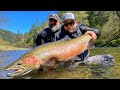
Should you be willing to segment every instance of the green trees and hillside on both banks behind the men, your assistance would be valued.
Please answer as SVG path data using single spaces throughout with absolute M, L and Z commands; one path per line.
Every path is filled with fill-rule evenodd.
M 62 24 L 65 13 L 74 13 L 79 23 L 101 31 L 101 36 L 94 42 L 95 46 L 120 46 L 120 11 L 59 11 Z M 48 22 L 35 23 L 28 33 L 18 34 L 0 29 L 0 45 L 10 44 L 16 47 L 34 47 L 36 36 L 46 27 Z

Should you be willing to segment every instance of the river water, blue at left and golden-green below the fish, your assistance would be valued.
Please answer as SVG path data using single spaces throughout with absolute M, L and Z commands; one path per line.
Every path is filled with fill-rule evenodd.
M 68 70 L 67 68 L 48 71 L 35 70 L 23 77 L 7 77 L 8 71 L 4 71 L 4 68 L 28 51 L 29 50 L 11 50 L 0 52 L 0 79 L 120 79 L 120 47 L 104 47 L 90 50 L 91 56 L 100 54 L 113 55 L 115 65 L 108 69 L 98 70 L 79 65 L 74 70 Z

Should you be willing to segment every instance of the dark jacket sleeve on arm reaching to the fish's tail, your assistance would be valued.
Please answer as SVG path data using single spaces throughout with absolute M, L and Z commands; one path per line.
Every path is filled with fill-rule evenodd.
M 80 27 L 80 29 L 81 29 L 81 31 L 82 31 L 83 34 L 84 34 L 86 31 L 93 31 L 93 32 L 95 32 L 95 34 L 97 35 L 97 38 L 100 37 L 100 35 L 101 35 L 101 32 L 100 32 L 100 30 L 98 30 L 98 29 L 94 29 L 94 28 L 87 27 L 87 26 L 85 26 L 84 24 L 80 24 L 79 27 Z

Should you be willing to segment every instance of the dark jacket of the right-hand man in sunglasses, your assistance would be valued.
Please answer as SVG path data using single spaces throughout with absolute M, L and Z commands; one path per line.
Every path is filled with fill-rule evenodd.
M 79 24 L 76 28 L 76 30 L 72 33 L 69 33 L 68 31 L 64 30 L 63 26 L 61 27 L 61 30 L 57 33 L 57 40 L 70 40 L 75 37 L 83 35 L 86 31 L 93 31 L 97 35 L 97 38 L 100 37 L 101 32 L 98 29 L 89 28 L 85 26 L 84 24 Z M 82 54 L 76 56 L 74 60 L 84 60 L 85 58 L 88 58 L 90 56 L 89 50 L 85 50 Z

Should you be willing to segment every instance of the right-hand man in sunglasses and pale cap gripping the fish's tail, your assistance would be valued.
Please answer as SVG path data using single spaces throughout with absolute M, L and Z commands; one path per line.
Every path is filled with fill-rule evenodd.
M 66 13 L 63 16 L 63 25 L 61 30 L 59 31 L 59 40 L 70 40 L 76 37 L 79 37 L 83 34 L 88 34 L 92 37 L 92 40 L 96 40 L 100 37 L 100 31 L 98 29 L 90 28 L 85 26 L 84 24 L 78 24 L 76 17 L 73 13 Z M 85 50 L 80 55 L 76 56 L 72 61 L 72 63 L 76 63 L 78 61 L 83 61 L 90 56 L 89 50 Z

